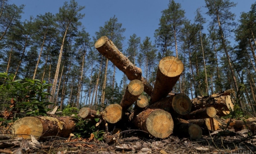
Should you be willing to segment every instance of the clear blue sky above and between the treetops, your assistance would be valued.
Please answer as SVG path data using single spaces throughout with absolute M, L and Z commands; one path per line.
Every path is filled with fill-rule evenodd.
M 29 19 L 30 15 L 36 16 L 51 12 L 53 14 L 59 11 L 63 6 L 65 0 L 9 0 L 9 3 L 16 5 L 25 4 L 23 19 Z M 124 36 L 124 49 L 127 48 L 127 40 L 135 33 L 137 36 L 144 38 L 151 37 L 154 42 L 154 31 L 158 28 L 159 18 L 161 18 L 161 11 L 166 9 L 169 0 L 76 0 L 79 5 L 85 6 L 81 12 L 85 17 L 81 21 L 86 31 L 90 36 L 99 30 L 100 26 L 109 20 L 110 17 L 116 15 L 118 22 L 123 24 L 126 28 Z M 185 16 L 192 22 L 195 18 L 195 12 L 198 7 L 202 7 L 202 14 L 207 12 L 204 0 L 175 0 L 180 3 L 182 9 L 185 10 Z M 255 0 L 233 0 L 237 3 L 237 7 L 232 8 L 231 11 L 236 14 L 236 19 L 239 18 L 242 11 L 248 12 Z M 207 20 L 211 20 L 207 15 L 203 15 Z M 206 25 L 204 25 L 206 29 Z M 207 33 L 207 31 L 206 31 Z M 231 39 L 231 42 L 232 39 Z M 234 43 L 234 42 L 233 42 Z M 117 74 L 120 71 L 117 70 Z M 120 81 L 120 76 L 117 77 Z

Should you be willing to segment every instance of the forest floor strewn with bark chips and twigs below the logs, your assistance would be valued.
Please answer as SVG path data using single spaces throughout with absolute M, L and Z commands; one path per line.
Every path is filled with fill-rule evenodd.
M 2 138 L 0 154 L 256 154 L 256 134 L 249 134 L 246 129 L 208 132 L 201 139 L 177 136 L 156 139 L 133 130 L 121 132 L 121 135 L 111 136 L 112 143 L 56 136 L 47 137 L 40 143 L 33 139 Z

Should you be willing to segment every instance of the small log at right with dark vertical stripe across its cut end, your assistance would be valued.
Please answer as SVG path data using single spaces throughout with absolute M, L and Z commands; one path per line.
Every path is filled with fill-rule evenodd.
M 199 125 L 202 128 L 206 128 L 212 132 L 220 129 L 219 125 L 221 125 L 215 118 L 206 118 L 206 119 L 195 119 L 195 120 L 188 120 L 189 123 Z

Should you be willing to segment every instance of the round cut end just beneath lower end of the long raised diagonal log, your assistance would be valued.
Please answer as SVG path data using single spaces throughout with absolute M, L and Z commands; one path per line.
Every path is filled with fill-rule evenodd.
M 132 80 L 128 84 L 128 91 L 132 95 L 135 95 L 135 96 L 140 95 L 144 91 L 144 85 L 139 80 Z

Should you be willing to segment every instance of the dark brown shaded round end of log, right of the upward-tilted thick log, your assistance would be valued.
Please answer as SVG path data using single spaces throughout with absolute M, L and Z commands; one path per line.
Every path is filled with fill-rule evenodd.
M 180 93 L 173 96 L 172 107 L 178 114 L 185 115 L 190 113 L 192 103 L 187 95 Z

